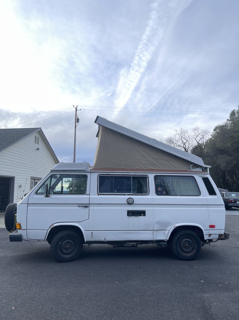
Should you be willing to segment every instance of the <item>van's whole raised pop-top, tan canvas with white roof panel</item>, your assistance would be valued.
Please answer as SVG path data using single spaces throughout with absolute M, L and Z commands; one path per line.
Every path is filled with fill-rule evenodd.
M 98 116 L 94 169 L 204 171 L 198 156 L 127 129 Z

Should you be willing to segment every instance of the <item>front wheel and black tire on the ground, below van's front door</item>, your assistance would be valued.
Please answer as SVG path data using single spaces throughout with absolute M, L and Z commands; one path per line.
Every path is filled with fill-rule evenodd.
M 57 233 L 51 241 L 51 254 L 59 262 L 76 260 L 82 251 L 82 240 L 78 233 L 63 230 Z

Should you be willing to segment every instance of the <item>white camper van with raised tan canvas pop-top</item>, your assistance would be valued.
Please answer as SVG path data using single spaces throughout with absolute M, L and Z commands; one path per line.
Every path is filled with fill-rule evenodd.
M 104 118 L 95 122 L 94 165 L 57 164 L 10 204 L 10 241 L 47 241 L 67 262 L 83 244 L 157 244 L 193 260 L 203 245 L 229 239 L 223 200 L 202 159 Z

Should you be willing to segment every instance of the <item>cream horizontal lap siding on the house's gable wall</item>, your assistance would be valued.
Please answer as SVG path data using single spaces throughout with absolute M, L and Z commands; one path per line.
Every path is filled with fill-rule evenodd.
M 36 144 L 35 136 L 39 137 Z M 39 151 L 36 150 L 39 148 Z M 43 178 L 56 164 L 41 132 L 34 132 L 0 152 L 0 176 L 15 177 L 14 202 L 30 191 L 31 177 Z M 22 187 L 19 188 L 19 185 Z

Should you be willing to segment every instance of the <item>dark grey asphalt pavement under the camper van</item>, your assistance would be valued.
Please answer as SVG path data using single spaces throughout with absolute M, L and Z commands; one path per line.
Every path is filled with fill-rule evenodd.
M 10 243 L 0 229 L 0 319 L 238 319 L 239 215 L 226 216 L 228 241 L 180 261 L 156 245 L 83 246 L 58 263 L 47 243 Z

